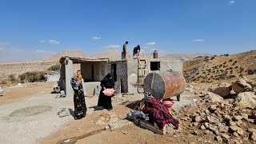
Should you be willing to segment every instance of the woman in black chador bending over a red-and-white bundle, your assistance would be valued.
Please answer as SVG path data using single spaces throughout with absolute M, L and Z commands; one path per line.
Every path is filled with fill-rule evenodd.
M 102 90 L 98 97 L 98 106 L 103 106 L 106 110 L 112 110 L 111 97 L 106 96 L 102 91 L 106 89 L 114 89 L 114 80 L 112 74 L 107 74 L 105 78 L 101 81 Z

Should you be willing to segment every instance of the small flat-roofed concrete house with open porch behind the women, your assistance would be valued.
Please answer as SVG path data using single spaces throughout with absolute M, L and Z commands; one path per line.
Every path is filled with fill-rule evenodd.
M 74 64 L 80 64 L 83 87 L 86 95 L 98 96 L 101 86 L 100 81 L 108 73 L 112 73 L 117 93 L 137 94 L 143 92 L 139 84 L 141 70 L 138 69 L 138 60 L 110 61 L 108 58 L 76 58 L 65 56 L 60 58 L 60 80 L 62 90 L 67 96 L 72 96 L 74 90 L 70 86 L 70 80 L 74 76 Z M 182 74 L 182 61 L 151 58 L 147 59 L 150 71 L 175 70 Z

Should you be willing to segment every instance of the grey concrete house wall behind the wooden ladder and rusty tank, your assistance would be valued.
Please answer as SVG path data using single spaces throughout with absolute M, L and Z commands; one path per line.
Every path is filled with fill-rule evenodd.
M 178 60 L 170 60 L 170 59 L 160 59 L 160 58 L 152 58 L 147 60 L 148 67 L 150 69 L 150 62 L 160 62 L 160 70 L 159 71 L 166 71 L 166 70 L 174 70 L 178 71 L 182 74 L 182 61 Z M 141 70 L 138 70 L 138 60 L 128 60 L 127 61 L 127 71 L 128 71 L 128 92 L 130 94 L 137 94 L 139 92 L 143 92 L 143 88 L 138 88 L 138 73 L 142 75 Z M 154 72 L 154 71 L 151 71 Z M 142 82 L 143 83 L 143 82 Z

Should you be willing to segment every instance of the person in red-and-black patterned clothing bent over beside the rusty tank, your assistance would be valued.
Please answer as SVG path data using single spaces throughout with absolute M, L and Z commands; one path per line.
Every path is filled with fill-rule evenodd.
M 159 129 L 162 129 L 166 124 L 173 124 L 178 129 L 178 120 L 174 118 L 168 108 L 160 102 L 160 100 L 154 98 L 149 92 L 145 94 L 145 107 L 143 112 L 149 114 L 149 122 L 158 125 Z

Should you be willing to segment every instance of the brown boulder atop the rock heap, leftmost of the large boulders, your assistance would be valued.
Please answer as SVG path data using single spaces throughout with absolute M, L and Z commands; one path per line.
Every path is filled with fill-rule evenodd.
M 210 88 L 210 92 L 213 92 L 214 94 L 218 94 L 222 97 L 226 97 L 227 95 L 229 95 L 231 90 L 232 90 L 231 85 L 226 82 L 222 82 Z

